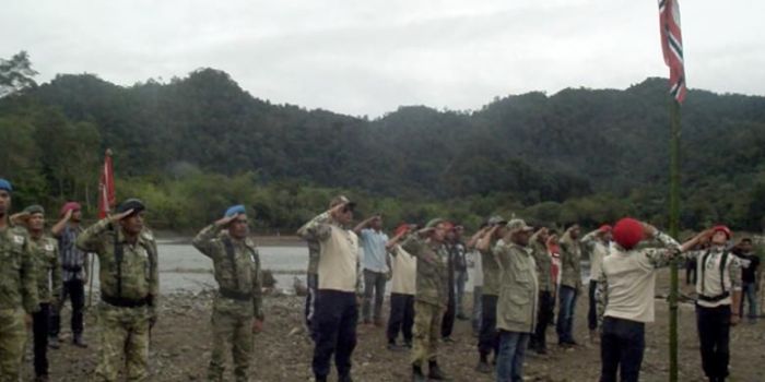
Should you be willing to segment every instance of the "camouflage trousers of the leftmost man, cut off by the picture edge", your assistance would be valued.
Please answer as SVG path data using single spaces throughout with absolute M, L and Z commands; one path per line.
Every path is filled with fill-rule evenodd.
M 0 309 L 0 382 L 16 382 L 26 345 L 23 309 Z

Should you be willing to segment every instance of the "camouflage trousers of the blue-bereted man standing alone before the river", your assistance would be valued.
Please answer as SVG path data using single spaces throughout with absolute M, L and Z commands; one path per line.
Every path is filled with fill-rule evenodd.
M 216 297 L 212 310 L 212 355 L 208 381 L 223 381 L 225 354 L 231 345 L 237 382 L 249 381 L 252 358 L 252 302 Z

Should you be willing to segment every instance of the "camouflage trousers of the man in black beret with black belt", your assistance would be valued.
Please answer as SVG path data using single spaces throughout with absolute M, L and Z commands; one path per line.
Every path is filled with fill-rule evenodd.
M 95 381 L 117 381 L 122 365 L 128 381 L 149 380 L 149 318 L 146 307 L 98 306 L 101 351 Z

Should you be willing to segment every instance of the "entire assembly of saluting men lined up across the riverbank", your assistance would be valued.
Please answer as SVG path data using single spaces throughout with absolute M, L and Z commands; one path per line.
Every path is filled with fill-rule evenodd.
M 82 302 L 87 252 L 99 260 L 101 351 L 95 378 L 116 381 L 125 357 L 128 379 L 146 380 L 160 289 L 156 242 L 144 227 L 143 203 L 126 200 L 114 215 L 84 230 L 78 225 L 79 205 L 67 203 L 61 220 L 52 227 L 58 238 L 54 239 L 44 232 L 40 206 L 9 216 L 12 191 L 11 183 L 0 179 L 0 262 L 10 264 L 0 267 L 0 381 L 19 379 L 31 325 L 37 380 L 47 380 L 48 337 L 54 338 L 50 346 L 58 345 L 59 322 L 54 319 L 51 330 L 49 312 L 60 310 L 63 296 L 72 298 L 73 344 L 86 346 Z M 467 319 L 462 310 L 467 275 L 462 273 L 470 251 L 480 253 L 474 262 L 482 278 L 473 310 L 479 332 L 476 369 L 491 372 L 489 357 L 494 354 L 496 381 L 521 381 L 527 348 L 546 351 L 546 327 L 555 299 L 558 344 L 576 345 L 573 318 L 582 289 L 582 247 L 590 251 L 588 326 L 590 339 L 601 342 L 601 381 L 615 381 L 617 372 L 621 381 L 638 380 L 645 324 L 654 321 L 656 270 L 680 256 L 696 259 L 698 264 L 696 314 L 704 371 L 711 382 L 728 375 L 729 327 L 741 314 L 741 266 L 752 266 L 755 261 L 731 254 L 732 232 L 725 226 L 703 231 L 681 246 L 631 218 L 582 238 L 579 227 L 570 225 L 558 240 L 550 227 L 532 228 L 519 218 L 508 222 L 494 216 L 466 244 L 461 227 L 442 218 L 423 227 L 401 225 L 392 238 L 382 232 L 379 214 L 350 229 L 354 208 L 348 198 L 337 196 L 327 212 L 298 230 L 309 243 L 306 321 L 315 343 L 317 382 L 327 380 L 332 356 L 339 381 L 352 381 L 358 298 L 363 323 L 381 326 L 389 278 L 393 288 L 388 347 L 411 347 L 412 381 L 449 380 L 438 365 L 437 348 L 439 342 L 451 341 L 455 317 Z M 260 259 L 249 239 L 248 223 L 245 207 L 235 205 L 193 240 L 212 259 L 219 284 L 211 319 L 210 381 L 223 380 L 228 345 L 236 380 L 249 380 L 252 334 L 263 325 Z M 706 249 L 693 250 L 705 243 Z M 360 248 L 364 249 L 363 263 Z M 396 342 L 399 332 L 403 347 Z

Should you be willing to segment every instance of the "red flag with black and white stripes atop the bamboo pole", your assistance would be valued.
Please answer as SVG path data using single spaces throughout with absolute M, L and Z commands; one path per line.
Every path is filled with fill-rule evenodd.
M 678 0 L 659 0 L 661 50 L 664 63 L 670 68 L 670 95 L 682 104 L 685 99 L 685 63 L 683 36 L 680 32 L 680 4 Z

